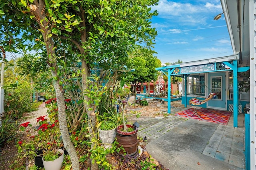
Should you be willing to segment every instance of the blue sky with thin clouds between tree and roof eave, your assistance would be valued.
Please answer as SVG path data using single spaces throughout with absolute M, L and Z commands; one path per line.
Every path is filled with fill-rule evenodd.
M 197 61 L 232 55 L 220 0 L 159 0 L 152 26 L 158 31 L 155 56 L 162 63 Z

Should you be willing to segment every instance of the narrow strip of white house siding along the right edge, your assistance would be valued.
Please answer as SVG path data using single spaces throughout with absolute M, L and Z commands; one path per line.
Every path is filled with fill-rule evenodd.
M 250 169 L 256 169 L 256 2 L 249 4 L 250 34 Z

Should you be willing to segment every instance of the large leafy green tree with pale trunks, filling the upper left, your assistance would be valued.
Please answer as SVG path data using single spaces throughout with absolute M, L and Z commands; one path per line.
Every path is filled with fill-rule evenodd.
M 53 77 L 58 104 L 60 131 L 68 150 L 72 167 L 79 169 L 76 151 L 71 143 L 66 123 L 62 71 L 65 57 L 56 52 L 60 46 L 80 57 L 82 89 L 89 89 L 88 77 L 92 68 L 112 74 L 109 70 L 122 70 L 130 53 L 139 44 L 152 46 L 156 30 L 150 19 L 156 15 L 149 6 L 158 0 L 3 0 L 0 4 L 0 23 L 9 37 L 20 35 L 41 48 Z M 19 28 L 19 30 L 13 30 Z M 22 32 L 21 32 L 22 31 Z M 29 47 L 26 47 L 28 49 Z M 77 62 L 77 61 L 74 61 Z M 102 74 L 108 76 L 109 74 Z M 120 74 L 121 75 L 121 74 Z M 102 77 L 103 78 L 103 77 Z M 111 82 L 110 82 L 111 83 Z M 93 102 L 84 95 L 88 119 L 92 122 L 89 132 L 96 132 L 96 114 Z M 91 138 L 92 139 L 92 138 Z M 92 142 L 93 147 L 93 142 Z M 92 169 L 97 169 L 92 164 Z

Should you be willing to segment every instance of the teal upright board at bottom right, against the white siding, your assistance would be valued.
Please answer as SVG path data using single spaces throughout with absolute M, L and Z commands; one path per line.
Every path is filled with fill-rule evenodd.
M 244 123 L 245 123 L 245 169 L 250 170 L 250 114 L 244 114 Z

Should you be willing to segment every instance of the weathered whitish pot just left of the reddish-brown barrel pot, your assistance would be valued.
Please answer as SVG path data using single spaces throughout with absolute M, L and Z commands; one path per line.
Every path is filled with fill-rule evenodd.
M 101 130 L 99 129 L 100 140 L 102 141 L 105 148 L 110 148 L 112 143 L 116 138 L 116 128 L 111 130 Z

